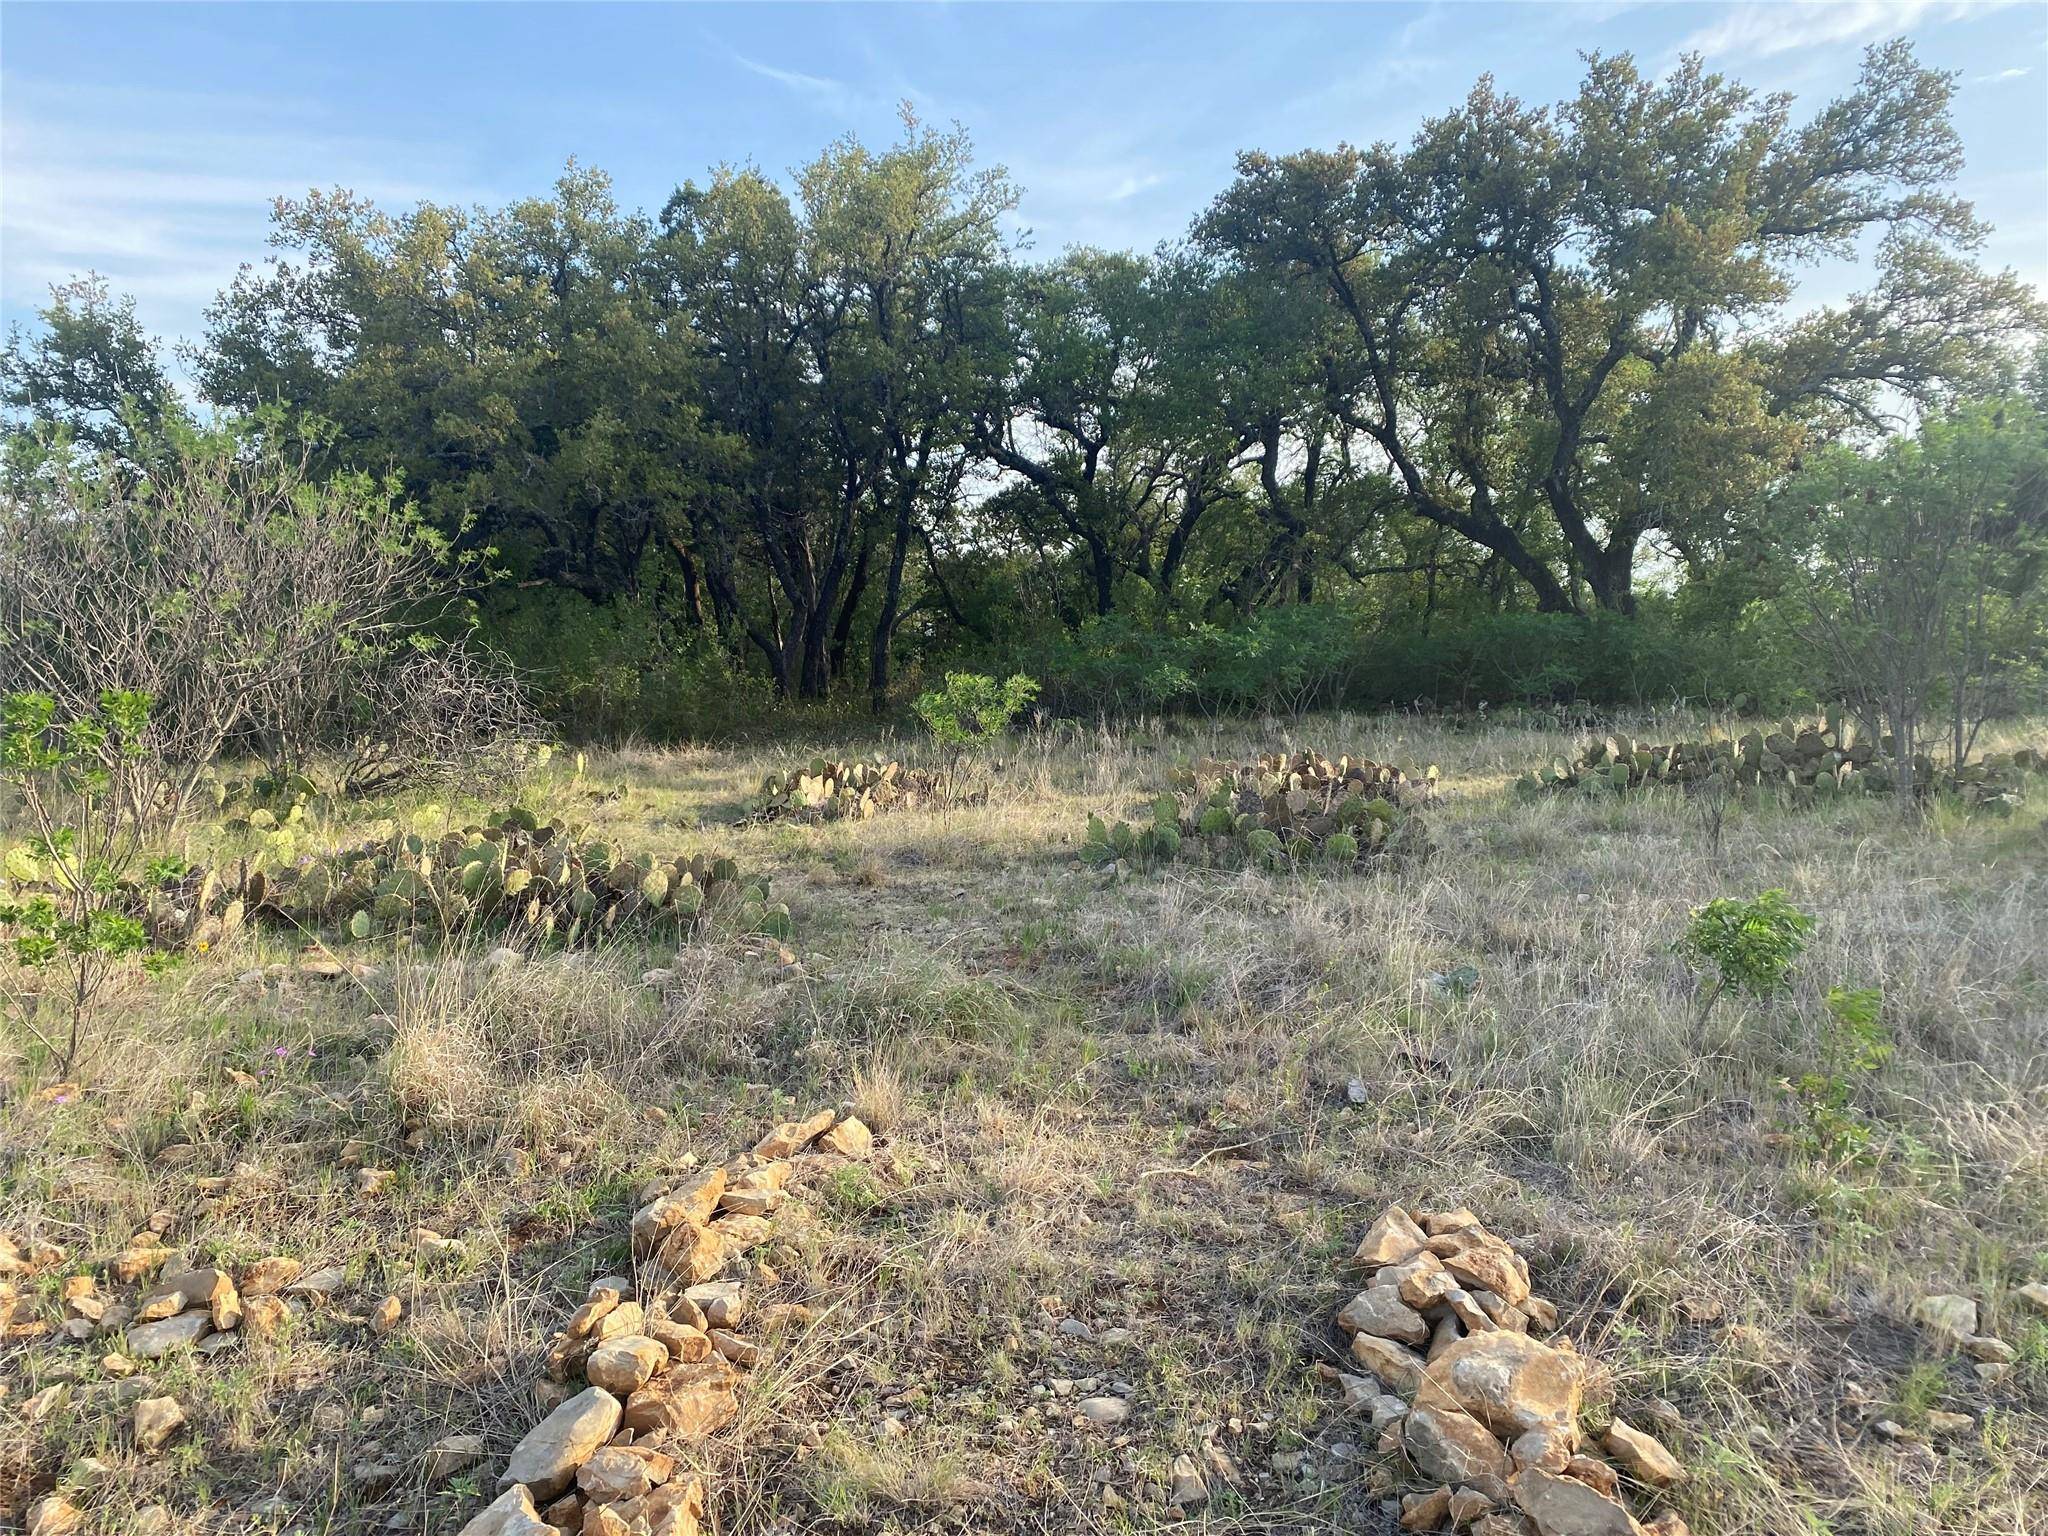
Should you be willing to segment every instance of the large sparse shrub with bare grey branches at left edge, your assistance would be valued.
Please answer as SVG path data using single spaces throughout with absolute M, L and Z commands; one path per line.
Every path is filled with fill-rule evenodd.
M 147 694 L 170 815 L 225 752 L 287 774 L 344 750 L 360 786 L 406 776 L 403 754 L 530 735 L 510 680 L 438 639 L 473 565 L 389 481 L 315 479 L 311 449 L 195 434 L 143 473 L 55 459 L 0 494 L 0 690 L 70 713 Z

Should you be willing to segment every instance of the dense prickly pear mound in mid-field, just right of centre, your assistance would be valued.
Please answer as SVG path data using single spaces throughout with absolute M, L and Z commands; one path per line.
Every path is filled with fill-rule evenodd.
M 1419 860 L 1430 852 L 1430 834 L 1413 807 L 1436 780 L 1434 766 L 1415 772 L 1368 758 L 1270 754 L 1251 764 L 1202 762 L 1174 770 L 1176 793 L 1153 799 L 1143 825 L 1092 815 L 1081 862 L 1114 870 L 1182 852 L 1276 870 Z

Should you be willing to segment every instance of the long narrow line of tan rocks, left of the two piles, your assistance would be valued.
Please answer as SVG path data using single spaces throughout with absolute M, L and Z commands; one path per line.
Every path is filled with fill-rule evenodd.
M 514 1446 L 504 1495 L 461 1536 L 698 1536 L 705 1483 L 678 1452 L 739 1415 L 762 1360 L 748 1331 L 807 1319 L 801 1307 L 750 1315 L 735 1262 L 768 1241 L 801 1163 L 872 1151 L 858 1118 L 819 1110 L 723 1167 L 649 1190 L 633 1212 L 637 1284 L 598 1280 L 553 1337 L 543 1399 L 565 1401 Z

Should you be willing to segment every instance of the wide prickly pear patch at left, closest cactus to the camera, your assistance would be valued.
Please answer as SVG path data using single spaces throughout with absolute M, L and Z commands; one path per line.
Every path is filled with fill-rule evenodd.
M 565 823 L 510 809 L 440 838 L 399 831 L 264 872 L 186 870 L 147 895 L 152 924 L 184 942 L 246 920 L 340 928 L 350 938 L 401 930 L 510 932 L 578 944 L 629 930 L 692 934 L 729 915 L 739 928 L 788 934 L 788 907 L 768 879 L 729 858 L 659 860 L 580 842 Z

